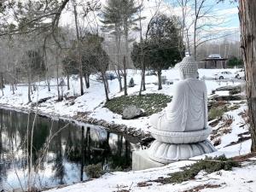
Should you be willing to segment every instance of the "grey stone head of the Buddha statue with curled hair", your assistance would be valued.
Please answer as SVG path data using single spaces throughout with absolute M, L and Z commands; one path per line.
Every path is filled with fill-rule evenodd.
M 179 70 L 181 79 L 197 79 L 198 67 L 197 63 L 192 56 L 185 56 L 183 61 L 177 63 L 175 66 Z

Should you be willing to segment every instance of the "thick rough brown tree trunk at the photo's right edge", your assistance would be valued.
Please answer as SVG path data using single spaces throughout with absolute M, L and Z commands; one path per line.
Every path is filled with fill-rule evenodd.
M 256 151 L 256 3 L 253 0 L 239 1 L 241 48 L 246 69 L 246 87 L 252 152 Z

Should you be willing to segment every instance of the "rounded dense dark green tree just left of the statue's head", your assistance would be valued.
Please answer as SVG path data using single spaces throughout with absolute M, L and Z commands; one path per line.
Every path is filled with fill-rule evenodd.
M 152 20 L 149 27 L 148 40 L 133 44 L 131 59 L 138 67 L 143 57 L 146 67 L 154 69 L 158 73 L 159 90 L 161 90 L 161 71 L 174 66 L 177 61 L 181 61 L 178 47 L 181 47 L 179 42 L 183 41 L 180 40 L 180 28 L 177 18 L 174 16 L 158 15 Z

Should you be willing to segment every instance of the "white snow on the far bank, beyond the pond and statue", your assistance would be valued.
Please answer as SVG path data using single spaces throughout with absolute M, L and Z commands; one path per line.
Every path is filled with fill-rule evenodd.
M 229 70 L 232 73 L 235 73 L 237 69 L 200 69 L 199 74 L 202 78 L 212 77 L 214 73 L 218 73 L 219 71 Z M 158 86 L 154 83 L 157 82 L 156 76 L 146 76 L 146 88 L 147 90 L 143 93 L 163 93 L 168 96 L 172 96 L 173 94 L 173 86 L 179 80 L 179 73 L 175 69 L 165 70 L 163 71 L 163 76 L 169 81 L 173 81 L 173 84 L 166 85 L 163 84 L 163 89 L 158 90 Z M 140 89 L 140 71 L 137 70 L 129 70 L 127 80 L 129 81 L 131 78 L 134 79 L 136 86 L 128 89 L 128 94 L 137 94 Z M 67 79 L 65 79 L 67 84 Z M 212 90 L 220 86 L 224 86 L 227 84 L 241 84 L 241 81 L 219 81 L 207 79 L 205 80 L 207 84 L 208 94 L 212 93 Z M 119 92 L 119 82 L 117 79 L 113 79 L 112 81 L 108 81 L 109 90 L 110 90 L 110 98 L 114 96 L 121 96 L 124 93 Z M 136 129 L 137 131 L 148 131 L 148 117 L 143 117 L 140 119 L 131 119 L 124 120 L 121 118 L 121 115 L 112 113 L 108 108 L 102 108 L 105 102 L 105 93 L 103 84 L 96 80 L 95 76 L 91 76 L 90 78 L 90 88 L 85 89 L 84 96 L 79 96 L 79 79 L 74 76 L 71 78 L 70 87 L 71 90 L 67 90 L 67 86 L 63 87 L 63 95 L 65 96 L 78 96 L 77 98 L 70 100 L 63 100 L 62 102 L 56 102 L 57 100 L 57 89 L 56 89 L 56 80 L 51 80 L 51 91 L 48 91 L 45 82 L 37 83 L 38 89 L 34 91 L 32 94 L 32 102 L 37 102 L 38 100 L 46 97 L 51 97 L 47 102 L 44 102 L 38 106 L 38 110 L 42 113 L 48 114 L 50 116 L 61 116 L 66 118 L 73 118 L 79 112 L 88 113 L 89 118 L 93 119 L 103 119 L 109 123 L 117 124 L 117 125 L 126 125 L 131 127 L 132 129 Z M 15 94 L 10 90 L 9 85 L 4 89 L 4 96 L 0 96 L 0 107 L 5 106 L 9 108 L 18 108 L 21 110 L 29 110 L 31 107 L 27 104 L 27 86 L 26 84 L 18 84 L 17 90 L 15 90 Z M 136 126 L 134 126 L 136 125 Z

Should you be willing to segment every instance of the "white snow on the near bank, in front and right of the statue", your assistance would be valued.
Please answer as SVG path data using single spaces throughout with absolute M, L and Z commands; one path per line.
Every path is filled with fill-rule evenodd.
M 255 162 L 244 162 L 241 167 L 233 168 L 232 171 L 222 170 L 211 174 L 199 172 L 195 179 L 183 183 L 161 184 L 152 181 L 159 177 L 168 177 L 168 174 L 178 172 L 183 166 L 189 166 L 194 163 L 195 161 L 193 160 L 201 160 L 205 158 L 205 156 L 215 157 L 224 154 L 226 157 L 230 158 L 250 153 L 251 140 L 249 139 L 239 142 L 239 136 L 241 136 L 241 134 L 247 135 L 248 131 L 248 128 L 245 125 L 246 119 L 243 115 L 246 109 L 246 104 L 241 104 L 240 108 L 224 113 L 224 116 L 233 117 L 233 121 L 228 127 L 230 131 L 224 132 L 223 135 L 220 136 L 221 143 L 216 145 L 216 148 L 218 149 L 217 152 L 197 156 L 191 160 L 177 161 L 160 168 L 152 168 L 136 172 L 112 172 L 85 183 L 77 183 L 62 189 L 51 189 L 49 192 L 255 191 L 255 157 L 249 159 L 255 160 Z M 213 130 L 221 131 L 226 128 L 227 127 L 224 126 L 224 120 L 221 120 L 218 125 L 213 127 Z M 211 136 L 209 139 L 210 138 Z M 142 186 L 142 183 L 144 186 Z

